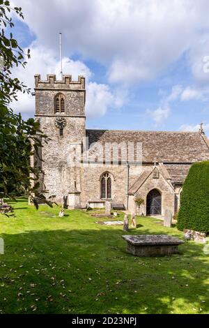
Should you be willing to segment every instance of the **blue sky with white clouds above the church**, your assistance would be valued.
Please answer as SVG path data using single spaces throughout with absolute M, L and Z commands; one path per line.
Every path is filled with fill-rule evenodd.
M 16 4 L 16 1 L 13 1 Z M 105 2 L 105 6 L 104 6 Z M 24 22 L 13 34 L 31 48 L 14 74 L 33 88 L 33 75 L 86 76 L 87 128 L 209 132 L 209 3 L 206 0 L 19 0 Z M 187 24 L 185 23 L 187 22 Z M 34 99 L 14 105 L 34 114 Z

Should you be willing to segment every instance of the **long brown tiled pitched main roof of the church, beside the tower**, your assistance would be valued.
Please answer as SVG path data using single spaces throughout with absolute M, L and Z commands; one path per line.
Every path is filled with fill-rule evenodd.
M 208 140 L 199 132 L 86 130 L 93 142 L 141 142 L 144 162 L 191 163 L 209 160 Z

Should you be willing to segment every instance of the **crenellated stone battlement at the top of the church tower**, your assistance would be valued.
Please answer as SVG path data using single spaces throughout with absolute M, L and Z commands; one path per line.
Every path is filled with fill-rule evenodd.
M 63 75 L 63 80 L 56 80 L 55 74 L 47 74 L 47 80 L 41 80 L 40 74 L 35 76 L 35 89 L 74 89 L 85 90 L 85 77 L 78 76 L 77 81 L 72 81 L 72 75 Z

